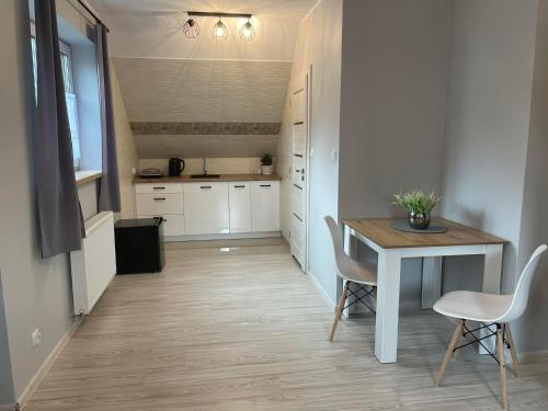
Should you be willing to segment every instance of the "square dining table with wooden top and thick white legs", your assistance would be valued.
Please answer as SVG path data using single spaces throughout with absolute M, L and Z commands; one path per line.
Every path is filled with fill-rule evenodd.
M 505 239 L 445 219 L 432 225 L 445 232 L 407 232 L 393 228 L 401 219 L 343 219 L 344 251 L 355 258 L 355 241 L 378 253 L 375 356 L 395 363 L 398 352 L 400 276 L 402 259 L 422 258 L 422 307 L 432 308 L 442 296 L 442 262 L 449 255 L 484 255 L 483 293 L 500 294 Z

